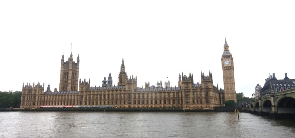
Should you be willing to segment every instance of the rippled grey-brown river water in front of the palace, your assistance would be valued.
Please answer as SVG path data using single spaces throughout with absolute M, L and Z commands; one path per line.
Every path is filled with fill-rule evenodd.
M 0 137 L 295 137 L 294 120 L 226 112 L 0 112 Z

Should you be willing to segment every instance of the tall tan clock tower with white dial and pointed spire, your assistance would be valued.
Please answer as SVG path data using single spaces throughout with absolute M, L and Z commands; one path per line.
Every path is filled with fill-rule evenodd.
M 224 50 L 221 58 L 221 64 L 223 72 L 224 98 L 225 101 L 234 100 L 235 102 L 237 102 L 234 75 L 234 59 L 232 58 L 232 54 L 230 53 L 226 38 L 223 48 Z

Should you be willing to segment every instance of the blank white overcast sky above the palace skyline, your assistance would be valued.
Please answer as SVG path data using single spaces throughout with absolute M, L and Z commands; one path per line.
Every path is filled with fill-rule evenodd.
M 0 1 L 0 91 L 22 83 L 59 87 L 60 61 L 80 55 L 79 77 L 94 87 L 109 72 L 117 86 L 122 56 L 137 86 L 201 71 L 223 88 L 224 36 L 236 92 L 251 97 L 269 73 L 294 73 L 294 1 Z M 168 78 L 167 78 L 168 77 Z

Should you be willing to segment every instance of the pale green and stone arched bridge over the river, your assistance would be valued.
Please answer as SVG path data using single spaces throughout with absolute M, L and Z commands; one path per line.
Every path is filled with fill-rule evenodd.
M 272 119 L 294 119 L 295 88 L 258 97 L 247 103 L 246 108 L 252 114 L 268 115 Z

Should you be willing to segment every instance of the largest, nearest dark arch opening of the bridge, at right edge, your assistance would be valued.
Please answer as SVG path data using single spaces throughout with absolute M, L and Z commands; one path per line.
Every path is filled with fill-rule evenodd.
M 295 113 L 295 99 L 293 97 L 282 97 L 278 100 L 277 112 L 280 113 Z

